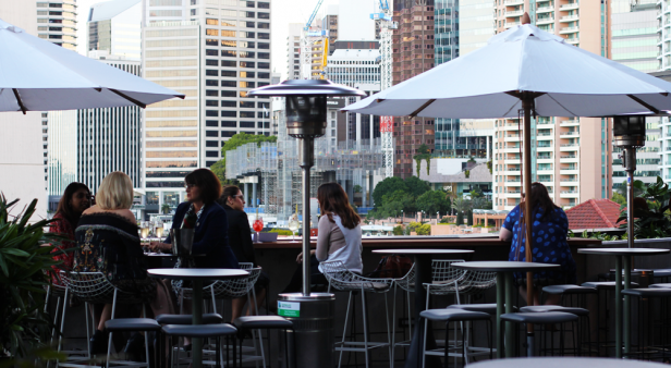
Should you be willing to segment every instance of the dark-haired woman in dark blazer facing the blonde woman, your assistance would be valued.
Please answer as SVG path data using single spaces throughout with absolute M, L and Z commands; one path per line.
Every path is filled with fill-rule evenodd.
M 227 213 L 217 199 L 221 196 L 221 183 L 208 169 L 197 169 L 184 177 L 187 201 L 180 204 L 172 218 L 172 229 L 195 229 L 192 254 L 197 268 L 239 268 L 237 258 L 229 246 Z M 172 240 L 152 242 L 155 252 L 169 252 Z

